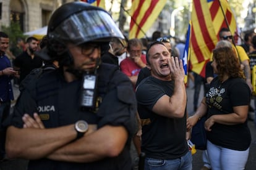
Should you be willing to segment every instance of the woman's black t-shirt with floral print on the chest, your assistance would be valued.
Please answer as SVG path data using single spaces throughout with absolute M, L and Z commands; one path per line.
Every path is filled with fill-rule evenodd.
M 233 107 L 249 105 L 250 89 L 244 79 L 229 78 L 220 83 L 218 77 L 210 84 L 210 90 L 205 95 L 208 104 L 209 118 L 212 115 L 234 113 Z M 215 123 L 211 131 L 207 131 L 207 139 L 215 145 L 233 150 L 247 150 L 250 145 L 250 130 L 245 123 L 224 125 Z

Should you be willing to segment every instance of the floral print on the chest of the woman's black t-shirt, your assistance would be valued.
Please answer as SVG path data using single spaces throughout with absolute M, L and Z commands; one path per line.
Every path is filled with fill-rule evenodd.
M 220 103 L 223 100 L 222 95 L 224 94 L 224 92 L 226 92 L 224 88 L 211 87 L 210 90 L 205 95 L 208 105 L 216 107 L 219 110 L 221 110 L 222 106 L 220 105 Z

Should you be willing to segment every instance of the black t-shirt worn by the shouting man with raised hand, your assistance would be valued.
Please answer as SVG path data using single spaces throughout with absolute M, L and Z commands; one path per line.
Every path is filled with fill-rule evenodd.
M 149 158 L 176 159 L 188 152 L 186 114 L 183 118 L 166 118 L 152 111 L 163 95 L 171 97 L 174 81 L 153 76 L 143 79 L 136 91 L 138 112 L 142 120 L 142 152 Z

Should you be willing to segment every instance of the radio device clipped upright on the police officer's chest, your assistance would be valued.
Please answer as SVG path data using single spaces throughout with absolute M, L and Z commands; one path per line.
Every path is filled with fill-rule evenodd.
M 98 75 L 84 73 L 82 77 L 82 90 L 80 94 L 80 107 L 94 108 L 97 93 Z

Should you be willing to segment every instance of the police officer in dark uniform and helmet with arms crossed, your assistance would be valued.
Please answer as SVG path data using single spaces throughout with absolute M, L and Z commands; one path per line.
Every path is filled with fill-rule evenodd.
M 49 21 L 43 58 L 59 68 L 23 89 L 7 129 L 9 158 L 28 169 L 132 169 L 137 129 L 129 79 L 100 62 L 100 47 L 124 37 L 111 16 L 85 2 L 59 7 Z

